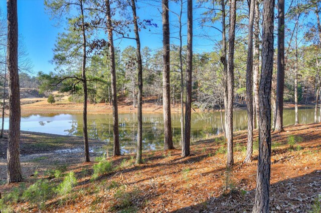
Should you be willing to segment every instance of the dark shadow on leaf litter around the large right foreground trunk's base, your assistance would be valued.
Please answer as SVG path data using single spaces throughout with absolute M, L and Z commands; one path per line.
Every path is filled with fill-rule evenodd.
M 321 193 L 321 170 L 271 184 L 270 211 L 308 212 Z M 251 212 L 255 190 L 230 190 L 218 197 L 171 212 Z

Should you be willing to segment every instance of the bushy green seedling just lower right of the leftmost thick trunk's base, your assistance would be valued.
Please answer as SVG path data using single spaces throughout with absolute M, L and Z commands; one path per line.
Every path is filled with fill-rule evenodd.
M 34 184 L 30 185 L 23 197 L 32 204 L 36 204 L 40 209 L 46 207 L 46 201 L 53 195 L 53 186 L 47 179 L 40 179 Z

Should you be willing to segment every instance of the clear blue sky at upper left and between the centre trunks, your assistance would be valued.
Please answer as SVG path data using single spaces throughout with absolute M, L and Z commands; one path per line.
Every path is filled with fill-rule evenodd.
M 149 46 L 152 49 L 157 49 L 162 47 L 162 19 L 161 13 L 158 8 L 161 9 L 161 3 L 159 3 L 158 8 L 149 5 L 148 1 L 143 1 L 147 3 L 138 4 L 138 15 L 141 19 L 152 18 L 158 27 L 150 28 L 148 30 L 142 30 L 140 32 L 141 46 Z M 158 1 L 151 1 L 153 3 Z M 0 7 L 6 13 L 7 11 L 7 1 L 0 0 Z M 172 3 L 170 7 L 173 10 L 179 11 L 177 4 Z M 186 10 L 186 8 L 185 8 Z M 194 18 L 196 19 L 200 14 L 200 10 L 194 12 Z M 183 22 L 186 23 L 186 13 L 183 14 Z M 176 24 L 176 15 L 171 13 L 170 20 L 173 24 Z M 45 11 L 45 5 L 43 0 L 18 0 L 18 24 L 19 24 L 19 34 L 23 39 L 23 43 L 26 46 L 29 57 L 31 58 L 34 67 L 33 72 L 37 74 L 38 71 L 49 72 L 54 70 L 54 65 L 50 63 L 53 57 L 53 51 L 58 32 L 64 30 L 63 26 L 57 27 L 56 20 L 50 19 L 50 16 Z M 171 33 L 177 31 L 172 27 Z M 199 26 L 197 22 L 194 23 L 194 31 L 198 32 Z M 186 25 L 184 26 L 183 33 L 186 34 Z M 203 31 L 203 30 L 202 30 Z M 209 31 L 208 31 L 209 32 Z M 218 31 L 211 32 L 213 36 L 219 35 Z M 185 37 L 186 39 L 186 37 Z M 175 38 L 172 38 L 172 42 L 177 42 Z M 186 42 L 186 41 L 185 41 Z M 117 44 L 124 48 L 127 45 L 135 46 L 133 40 L 122 39 L 117 40 Z M 194 38 L 194 49 L 195 51 L 210 50 L 213 48 L 213 43 L 209 40 L 205 41 L 203 38 Z

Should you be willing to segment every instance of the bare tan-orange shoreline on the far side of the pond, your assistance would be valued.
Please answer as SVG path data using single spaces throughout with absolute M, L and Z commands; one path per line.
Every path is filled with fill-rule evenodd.
M 22 100 L 22 112 L 23 113 L 82 113 L 83 104 L 74 103 L 68 101 L 68 97 L 63 97 L 61 100 L 51 104 L 48 103 L 47 98 L 23 98 Z M 299 104 L 299 107 L 314 107 L 312 104 Z M 294 108 L 294 104 L 286 103 L 284 108 Z M 234 106 L 234 110 L 246 109 L 246 105 Z M 88 104 L 88 113 L 111 113 L 112 105 L 109 103 L 90 103 Z M 143 112 L 163 112 L 163 105 L 155 104 L 154 99 L 143 99 L 142 105 Z M 180 113 L 181 104 L 177 103 L 171 106 L 172 112 Z M 216 109 L 218 111 L 219 109 Z M 224 110 L 224 109 L 223 109 Z M 119 98 L 118 100 L 118 112 L 136 112 L 137 105 L 133 107 L 131 102 L 127 102 L 124 98 Z M 200 108 L 192 108 L 192 112 L 201 112 Z

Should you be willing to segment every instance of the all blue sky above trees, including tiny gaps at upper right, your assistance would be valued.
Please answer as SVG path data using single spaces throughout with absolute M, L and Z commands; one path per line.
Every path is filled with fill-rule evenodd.
M 289 2 L 288 2 L 289 3 Z M 157 0 L 141 0 L 137 2 L 137 14 L 140 19 L 152 19 L 152 22 L 157 27 L 152 26 L 148 29 L 142 29 L 141 45 L 142 47 L 148 46 L 153 50 L 159 50 L 162 48 L 162 16 L 161 2 Z M 285 11 L 287 11 L 289 5 L 285 5 Z M 219 8 L 219 7 L 218 7 Z M 0 0 L 0 9 L 2 13 L 6 15 L 7 5 L 5 0 Z M 171 43 L 178 43 L 178 18 L 175 12 L 179 12 L 179 5 L 175 2 L 170 2 L 170 28 L 171 28 Z M 242 8 L 237 8 L 238 10 Z M 245 8 L 246 9 L 246 8 Z M 218 29 L 208 26 L 201 26 L 200 21 L 204 15 L 202 13 L 206 10 L 204 7 L 198 7 L 198 4 L 194 5 L 194 37 L 193 46 L 195 52 L 211 51 L 215 50 L 217 41 L 221 40 L 221 33 Z M 276 14 L 276 9 L 275 9 Z M 6 17 L 6 16 L 5 16 Z M 59 32 L 64 31 L 64 21 L 60 21 L 57 24 L 57 19 L 50 19 L 50 15 L 46 12 L 44 6 L 44 0 L 20 0 L 18 2 L 18 18 L 19 18 L 19 34 L 26 45 L 26 50 L 29 53 L 34 67 L 33 73 L 38 71 L 48 73 L 54 70 L 54 65 L 50 60 L 53 58 L 53 48 L 56 43 L 56 39 Z M 186 8 L 183 11 L 183 35 L 184 44 L 186 44 Z M 308 17 L 313 19 L 313 17 Z M 287 23 L 290 24 L 290 23 Z M 221 28 L 217 22 L 212 25 L 217 28 Z M 239 31 L 236 31 L 236 34 Z M 115 45 L 121 49 L 127 45 L 134 45 L 134 40 L 131 39 L 117 39 L 115 36 Z M 161 61 L 159 61 L 161 62 Z

